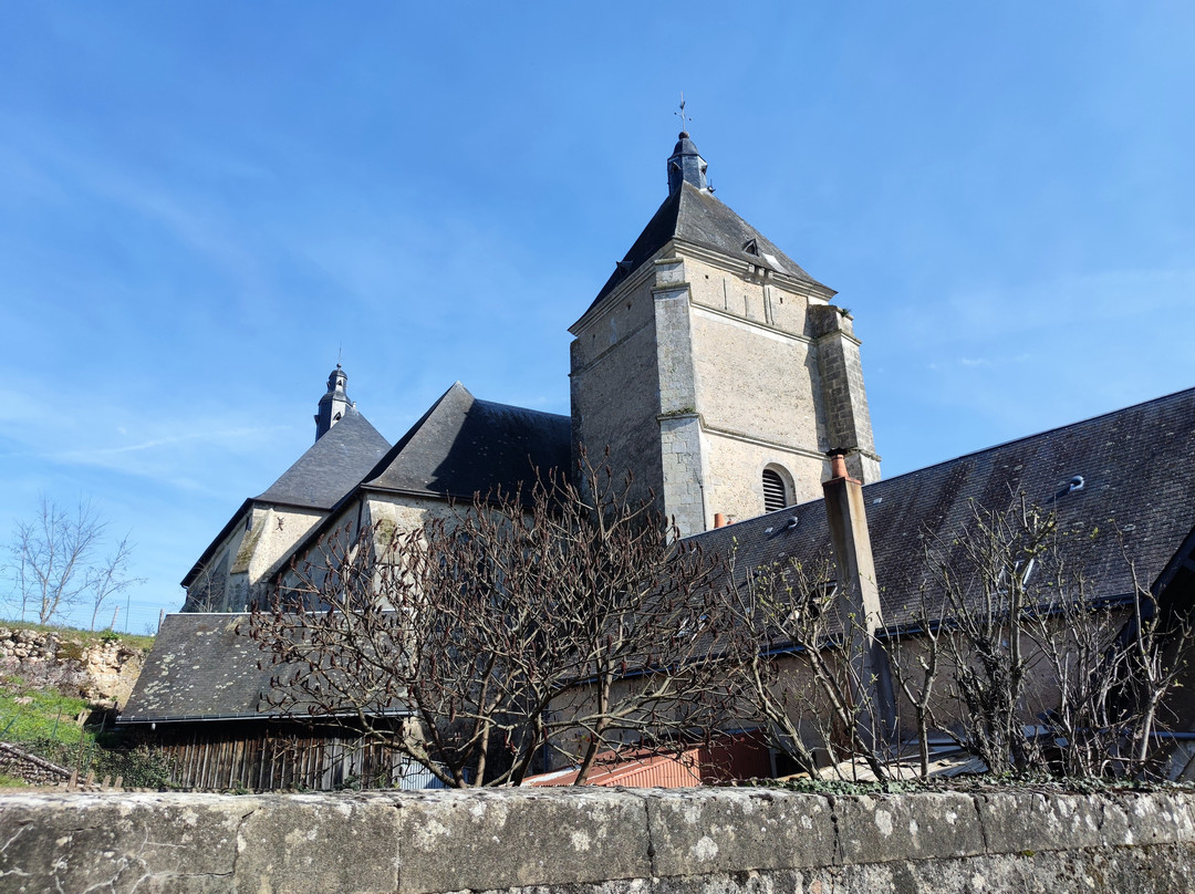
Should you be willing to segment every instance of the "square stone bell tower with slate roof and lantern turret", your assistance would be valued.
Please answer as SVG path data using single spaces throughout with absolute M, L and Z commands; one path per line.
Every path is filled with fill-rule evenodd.
M 815 500 L 827 453 L 880 478 L 859 341 L 833 289 L 715 198 L 682 131 L 668 197 L 569 330 L 572 433 L 682 535 Z

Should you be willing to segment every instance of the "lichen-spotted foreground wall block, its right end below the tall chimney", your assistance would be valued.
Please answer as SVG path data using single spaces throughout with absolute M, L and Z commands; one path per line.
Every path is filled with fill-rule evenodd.
M 829 803 L 816 795 L 678 789 L 646 801 L 658 876 L 815 867 L 834 852 Z

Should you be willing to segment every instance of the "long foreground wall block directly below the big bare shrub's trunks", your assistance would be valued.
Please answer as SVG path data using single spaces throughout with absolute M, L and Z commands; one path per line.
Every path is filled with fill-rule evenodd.
M 448 791 L 397 803 L 403 894 L 651 875 L 643 800 L 624 791 Z

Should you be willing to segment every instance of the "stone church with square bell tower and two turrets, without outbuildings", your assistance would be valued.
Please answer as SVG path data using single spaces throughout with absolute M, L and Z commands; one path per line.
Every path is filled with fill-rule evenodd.
M 315 443 L 216 534 L 183 578 L 184 611 L 243 611 L 331 529 L 411 529 L 452 501 L 570 470 L 582 445 L 608 448 L 681 537 L 816 498 L 829 452 L 878 480 L 859 341 L 834 290 L 715 197 L 685 131 L 667 174 L 569 329 L 571 418 L 456 382 L 391 445 L 337 365 Z

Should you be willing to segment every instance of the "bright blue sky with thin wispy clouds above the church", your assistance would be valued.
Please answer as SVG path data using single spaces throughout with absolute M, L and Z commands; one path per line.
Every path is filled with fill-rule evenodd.
M 568 412 L 681 90 L 885 474 L 1195 385 L 1191 4 L 574 6 L 0 7 L 0 533 L 90 496 L 141 632 L 338 350 L 392 441 L 458 379 Z

